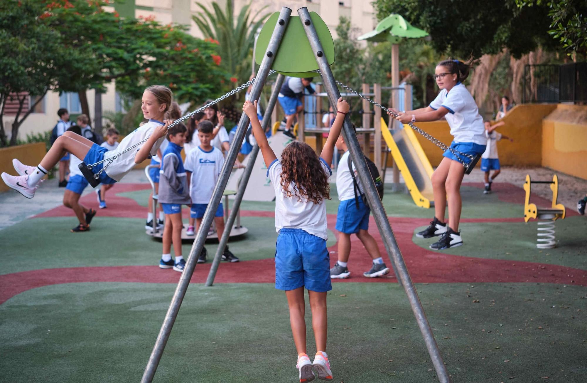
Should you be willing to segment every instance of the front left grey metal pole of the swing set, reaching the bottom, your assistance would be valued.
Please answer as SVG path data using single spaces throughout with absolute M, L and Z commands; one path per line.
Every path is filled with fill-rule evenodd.
M 269 44 L 267 45 L 265 56 L 261 62 L 257 79 L 255 79 L 255 83 L 251 90 L 251 99 L 258 99 L 259 95 L 261 95 L 261 90 L 265 85 L 265 79 L 268 76 L 269 69 L 271 69 L 271 65 L 275 58 L 275 53 L 279 48 L 282 37 L 284 36 L 291 12 L 292 10 L 286 8 L 285 6 L 281 8 L 278 22 L 275 24 L 275 29 L 271 35 L 271 39 L 269 39 Z M 238 122 L 237 133 L 234 137 L 235 142 L 242 141 L 248 125 L 249 118 L 247 117 L 246 113 L 243 112 L 241 119 Z M 218 182 L 214 187 L 214 191 L 212 192 L 210 203 L 208 204 L 208 207 L 204 213 L 200 229 L 198 229 L 194 244 L 191 247 L 190 255 L 187 258 L 187 263 L 185 263 L 184 271 L 181 273 L 180 281 L 178 282 L 176 292 L 173 294 L 173 298 L 171 299 L 171 303 L 167 310 L 167 314 L 165 315 L 163 325 L 161 325 L 161 330 L 159 331 L 157 341 L 155 342 L 153 351 L 149 357 L 149 362 L 147 362 L 147 367 L 143 373 L 141 383 L 150 383 L 153 381 L 153 377 L 157 371 L 157 366 L 161 360 L 161 355 L 163 355 L 163 350 L 167 344 L 167 340 L 169 339 L 171 328 L 173 328 L 173 324 L 177 318 L 177 313 L 180 310 L 181 301 L 183 301 L 185 291 L 187 290 L 187 287 L 190 284 L 191 276 L 194 273 L 198 256 L 204 247 L 208 229 L 210 229 L 212 220 L 214 220 L 214 214 L 216 209 L 218 209 L 218 205 L 222 199 L 222 193 L 224 192 L 224 188 L 228 182 L 228 177 L 230 177 L 232 167 L 234 166 L 234 162 L 237 159 L 238 150 L 238 145 L 233 145 L 230 150 L 228 150 L 227 159 L 224 162 L 224 166 L 222 166 L 222 170 L 220 172 L 220 178 L 218 179 Z

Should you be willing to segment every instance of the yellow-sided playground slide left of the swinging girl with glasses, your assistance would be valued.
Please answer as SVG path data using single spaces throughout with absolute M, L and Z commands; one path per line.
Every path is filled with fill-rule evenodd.
M 414 203 L 420 207 L 434 206 L 432 194 L 432 166 L 422 150 L 414 131 L 409 125 L 390 132 L 385 120 L 381 119 L 383 139 L 392 151 L 393 160 L 402 172 L 404 182 Z

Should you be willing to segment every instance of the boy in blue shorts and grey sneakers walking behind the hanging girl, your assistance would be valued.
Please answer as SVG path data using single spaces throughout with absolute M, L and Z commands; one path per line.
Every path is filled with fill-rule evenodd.
M 339 114 L 339 113 L 337 113 Z M 343 279 L 350 276 L 347 267 L 350 255 L 350 234 L 356 234 L 363 246 L 373 260 L 369 271 L 363 273 L 364 277 L 375 278 L 389 273 L 389 267 L 383 263 L 383 258 L 379 253 L 377 242 L 369 234 L 369 214 L 371 209 L 363 202 L 363 185 L 356 174 L 355 166 L 351 163 L 352 169 L 349 169 L 349 148 L 346 146 L 343 136 L 336 140 L 336 149 L 343 150 L 345 154 L 340 157 L 338 169 L 336 170 L 336 190 L 338 190 L 338 215 L 336 216 L 336 230 L 340 232 L 338 237 L 338 261 L 330 269 L 330 278 Z M 359 190 L 358 196 L 355 194 L 355 179 Z

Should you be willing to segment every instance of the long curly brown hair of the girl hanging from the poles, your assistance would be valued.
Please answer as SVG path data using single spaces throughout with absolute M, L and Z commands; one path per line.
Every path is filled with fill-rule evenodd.
M 295 184 L 293 191 L 289 190 L 291 182 Z M 285 196 L 296 196 L 300 202 L 305 199 L 320 204 L 330 199 L 328 175 L 308 144 L 294 141 L 281 153 L 281 187 Z

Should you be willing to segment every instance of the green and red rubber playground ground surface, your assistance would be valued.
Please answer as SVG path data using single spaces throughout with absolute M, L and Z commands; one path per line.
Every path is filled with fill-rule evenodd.
M 414 236 L 433 210 L 407 194 L 383 199 L 451 379 L 585 382 L 587 220 L 568 209 L 556 221 L 558 247 L 538 250 L 536 222 L 522 219 L 524 191 L 492 189 L 484 195 L 482 184 L 463 184 L 465 245 L 443 251 Z M 157 267 L 161 243 L 144 233 L 149 186 L 116 184 L 109 193 L 87 233 L 69 233 L 76 220 L 65 207 L 0 231 L 0 381 L 140 381 L 180 274 Z M 81 202 L 97 208 L 93 193 Z M 203 285 L 211 262 L 195 268 L 154 381 L 298 381 L 285 294 L 274 288 L 273 211 L 273 203 L 242 203 L 249 231 L 230 241 L 241 261 L 221 263 L 214 287 Z M 369 230 L 384 253 L 373 219 Z M 190 247 L 184 243 L 184 256 Z M 217 245 L 206 247 L 213 256 Z M 393 273 L 363 277 L 369 267 L 353 237 L 351 277 L 328 295 L 334 381 L 437 381 L 403 288 Z M 313 355 L 309 306 L 306 322 Z

